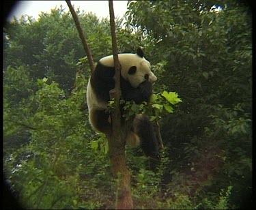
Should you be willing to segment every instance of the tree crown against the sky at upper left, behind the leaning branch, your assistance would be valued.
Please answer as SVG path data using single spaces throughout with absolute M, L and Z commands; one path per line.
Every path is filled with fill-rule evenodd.
M 98 20 L 94 14 L 85 15 L 79 10 L 76 12 L 87 34 L 91 52 L 95 52 L 94 59 L 97 61 L 109 55 L 109 23 Z M 5 42 L 4 68 L 23 64 L 31 73 L 31 79 L 46 76 L 57 82 L 66 93 L 70 93 L 74 87 L 76 63 L 79 58 L 85 57 L 85 52 L 69 12 L 64 12 L 60 7 L 52 10 L 51 14 L 42 13 L 38 21 L 23 16 L 6 27 Z

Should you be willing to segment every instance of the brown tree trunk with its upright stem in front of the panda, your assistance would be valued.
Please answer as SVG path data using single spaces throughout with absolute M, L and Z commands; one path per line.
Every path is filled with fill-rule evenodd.
M 113 1 L 109 0 L 109 16 L 111 25 L 112 49 L 115 63 L 115 89 L 109 92 L 109 95 L 115 99 L 115 110 L 111 112 L 112 133 L 108 136 L 109 156 L 113 174 L 117 177 L 117 192 L 115 209 L 133 209 L 133 201 L 130 190 L 130 172 L 126 167 L 125 155 L 125 136 L 126 126 L 121 126 L 121 115 L 119 101 L 121 97 L 120 72 L 121 65 L 118 61 L 117 40 L 115 34 L 115 14 L 113 10 Z

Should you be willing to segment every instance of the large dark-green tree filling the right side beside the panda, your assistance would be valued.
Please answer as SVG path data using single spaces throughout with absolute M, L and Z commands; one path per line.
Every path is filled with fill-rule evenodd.
M 238 204 L 251 195 L 250 10 L 223 1 L 221 12 L 210 12 L 215 2 L 204 2 L 207 10 L 194 1 L 130 2 L 127 19 L 152 43 L 150 59 L 167 61 L 158 84 L 184 99 L 162 121 L 173 160 L 165 179 L 175 180 L 167 190 L 193 195 L 233 185 Z

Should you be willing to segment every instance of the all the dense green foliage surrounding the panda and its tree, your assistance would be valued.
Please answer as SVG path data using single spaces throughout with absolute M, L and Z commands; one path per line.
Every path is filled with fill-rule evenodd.
M 154 100 L 164 91 L 182 98 L 173 113 L 152 116 L 160 162 L 126 149 L 137 209 L 250 205 L 251 14 L 236 1 L 201 2 L 131 1 L 125 27 L 117 20 L 120 52 L 145 47 L 158 76 Z M 210 11 L 214 3 L 223 10 Z M 110 55 L 109 20 L 76 12 L 94 60 Z M 87 119 L 89 64 L 72 16 L 62 8 L 24 16 L 3 38 L 6 182 L 31 209 L 113 208 L 118 180 L 106 139 Z

